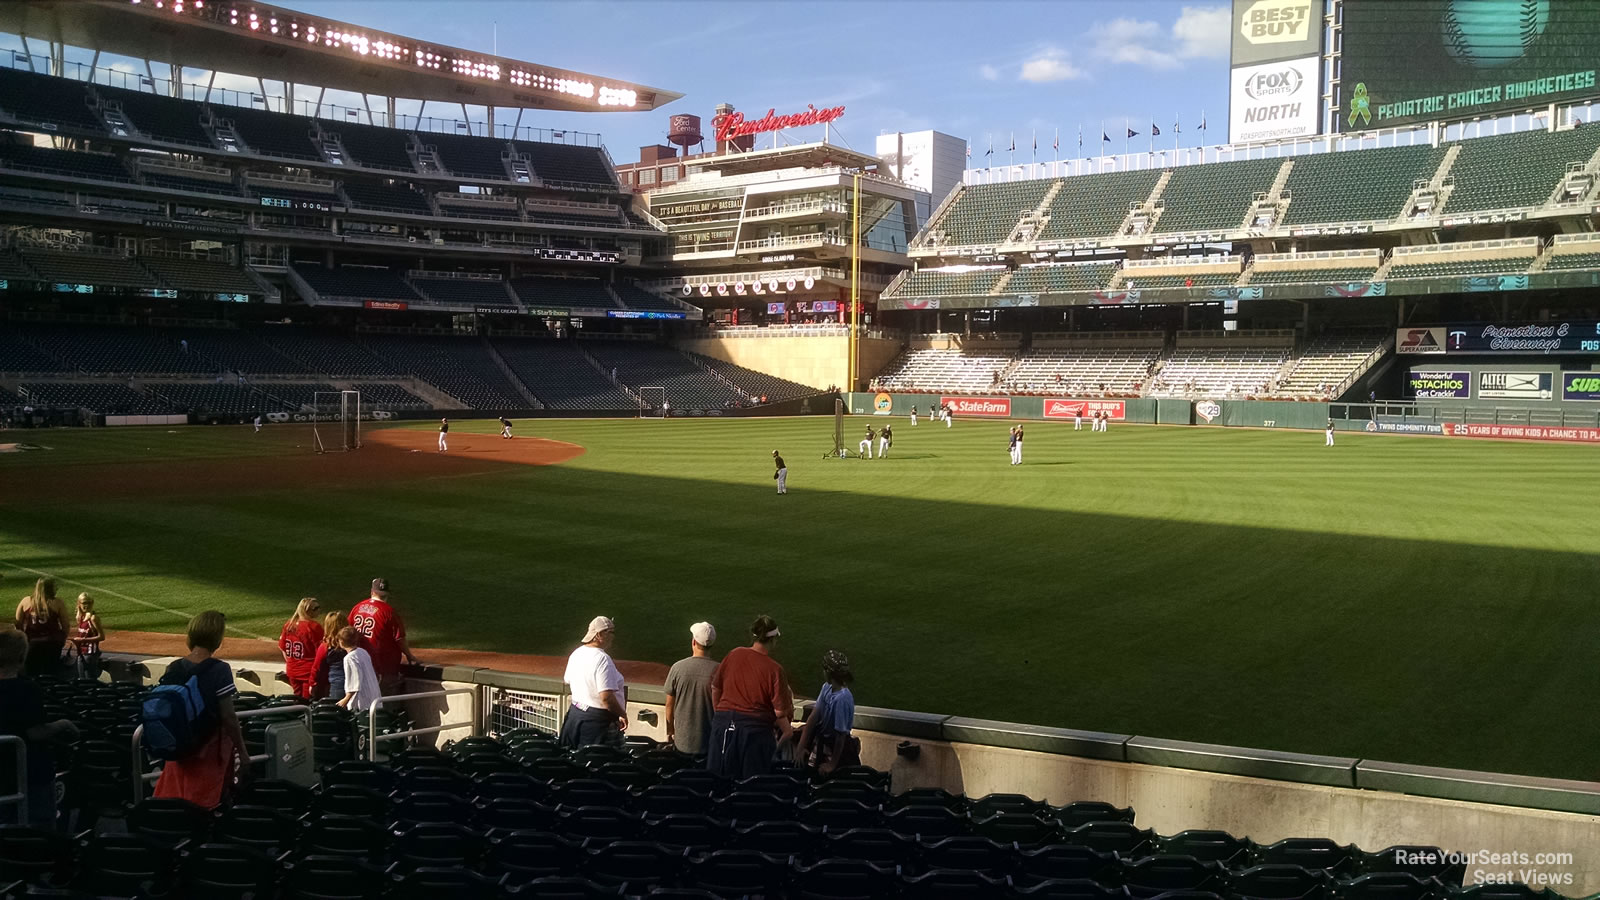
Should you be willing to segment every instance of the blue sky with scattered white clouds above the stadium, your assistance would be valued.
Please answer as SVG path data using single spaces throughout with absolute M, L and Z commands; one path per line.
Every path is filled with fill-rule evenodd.
M 982 163 L 989 135 L 1018 162 L 1038 130 L 1040 159 L 1061 130 L 1074 155 L 1099 122 L 1122 149 L 1122 120 L 1146 133 L 1154 117 L 1170 147 L 1174 115 L 1195 144 L 1200 110 L 1210 139 L 1227 135 L 1226 2 L 493 2 L 286 0 L 349 22 L 493 50 L 502 56 L 613 75 L 683 93 L 654 112 L 525 115 L 523 123 L 598 131 L 618 162 L 664 143 L 667 115 L 731 102 L 760 115 L 845 106 L 835 139 L 872 151 L 882 131 L 936 128 L 971 141 Z M 434 114 L 430 104 L 429 112 Z M 446 115 L 440 110 L 438 115 Z M 1138 138 L 1133 147 L 1147 146 Z

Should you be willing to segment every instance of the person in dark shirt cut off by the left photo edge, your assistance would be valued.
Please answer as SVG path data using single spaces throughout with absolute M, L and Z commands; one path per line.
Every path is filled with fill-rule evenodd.
M 45 692 L 22 676 L 29 657 L 29 641 L 21 631 L 0 631 L 0 735 L 19 737 L 27 745 L 27 809 L 18 822 L 35 828 L 56 825 L 56 759 L 53 745 L 78 735 L 66 719 L 45 721 Z M 6 754 L 10 757 L 10 753 Z M 19 786 L 14 765 L 0 767 L 0 794 L 14 794 Z

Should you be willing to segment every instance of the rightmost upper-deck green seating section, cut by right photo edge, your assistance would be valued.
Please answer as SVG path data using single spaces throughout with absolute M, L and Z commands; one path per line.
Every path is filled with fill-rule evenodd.
M 1566 175 L 1568 163 L 1587 163 L 1600 149 L 1600 130 L 1518 131 L 1458 141 L 1450 167 L 1454 189 L 1446 213 L 1542 207 Z

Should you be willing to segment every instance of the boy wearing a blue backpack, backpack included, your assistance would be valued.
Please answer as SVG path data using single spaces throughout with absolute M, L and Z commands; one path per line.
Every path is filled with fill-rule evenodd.
M 173 660 L 144 700 L 144 749 L 165 759 L 155 796 L 216 809 L 243 775 L 245 733 L 234 711 L 234 669 L 216 658 L 226 618 L 206 610 L 189 620 L 189 655 Z

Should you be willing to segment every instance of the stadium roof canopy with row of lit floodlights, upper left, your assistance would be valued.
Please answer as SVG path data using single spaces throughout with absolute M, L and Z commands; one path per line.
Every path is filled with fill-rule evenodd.
M 381 18 L 389 3 L 373 3 Z M 578 112 L 680 93 L 246 0 L 5 0 L 0 30 L 64 46 L 389 98 Z

